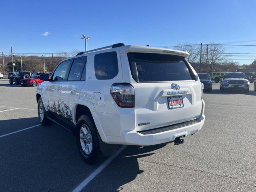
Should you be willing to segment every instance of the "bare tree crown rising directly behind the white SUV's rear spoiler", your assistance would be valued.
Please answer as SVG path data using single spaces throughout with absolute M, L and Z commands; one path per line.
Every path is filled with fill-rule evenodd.
M 177 50 L 182 50 L 182 51 L 187 51 L 190 56 L 187 57 L 187 60 L 190 63 L 194 63 L 196 62 L 199 57 L 200 57 L 200 46 L 198 45 L 194 45 L 193 43 L 178 43 L 176 44 L 177 46 L 175 47 L 175 49 Z

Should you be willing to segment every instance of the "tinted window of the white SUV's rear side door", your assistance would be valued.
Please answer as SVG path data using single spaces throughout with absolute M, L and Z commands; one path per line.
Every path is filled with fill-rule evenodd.
M 70 69 L 68 80 L 81 80 L 86 58 L 75 59 Z

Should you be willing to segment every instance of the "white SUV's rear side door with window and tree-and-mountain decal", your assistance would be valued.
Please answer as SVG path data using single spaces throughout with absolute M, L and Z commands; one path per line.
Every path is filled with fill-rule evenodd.
M 73 120 L 74 107 L 78 103 L 80 91 L 85 82 L 86 60 L 86 56 L 74 59 L 68 77 L 62 84 L 58 115 L 66 120 Z

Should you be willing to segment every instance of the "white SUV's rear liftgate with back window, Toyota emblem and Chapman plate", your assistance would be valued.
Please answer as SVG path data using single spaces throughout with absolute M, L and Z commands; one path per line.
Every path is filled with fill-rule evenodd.
M 135 93 L 136 130 L 189 121 L 202 112 L 197 74 L 180 56 L 128 53 Z

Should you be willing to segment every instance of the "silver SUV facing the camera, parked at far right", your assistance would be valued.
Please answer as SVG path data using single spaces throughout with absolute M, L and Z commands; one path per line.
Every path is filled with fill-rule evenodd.
M 236 90 L 249 92 L 250 82 L 246 79 L 244 73 L 242 72 L 228 72 L 225 73 L 220 80 L 220 90 L 224 92 L 225 90 Z

